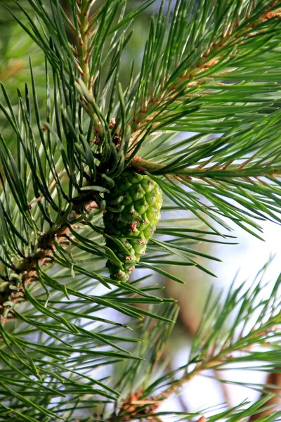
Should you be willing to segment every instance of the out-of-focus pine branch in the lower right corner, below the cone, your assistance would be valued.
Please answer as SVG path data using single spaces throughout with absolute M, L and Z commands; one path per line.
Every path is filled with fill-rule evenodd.
M 138 406 L 135 403 L 131 406 L 131 393 L 128 400 L 123 404 L 120 413 L 112 416 L 112 421 L 119 421 L 120 417 L 127 415 L 130 418 L 144 417 L 145 414 L 155 414 L 162 401 L 174 395 L 183 388 L 198 374 L 204 373 L 207 369 L 220 371 L 231 368 L 232 363 L 237 362 L 264 362 L 262 368 L 268 372 L 274 369 L 279 373 L 279 347 L 277 345 L 280 336 L 280 302 L 275 302 L 275 293 L 280 288 L 280 278 L 272 288 L 272 293 L 268 298 L 264 298 L 263 288 L 261 287 L 263 272 L 256 278 L 254 286 L 240 293 L 241 286 L 237 289 L 230 288 L 226 302 L 223 307 L 218 303 L 212 302 L 211 297 L 207 300 L 207 307 L 202 315 L 202 325 L 197 330 L 197 335 L 193 341 L 190 359 L 186 366 L 177 371 L 172 371 L 159 378 L 158 381 L 152 381 L 150 385 L 143 390 L 138 390 L 136 395 L 138 399 L 151 400 L 152 404 L 146 407 Z M 214 300 L 214 299 L 213 299 Z M 259 302 L 257 302 L 259 300 Z M 215 306 L 214 306 L 215 304 Z M 209 308 L 209 310 L 208 310 Z M 259 315 L 254 314 L 259 310 Z M 235 312 L 231 327 L 226 328 L 226 321 L 229 321 L 230 315 Z M 251 318 L 254 316 L 254 322 Z M 254 350 L 258 347 L 257 350 Z M 261 347 L 259 349 L 259 347 Z M 262 348 L 264 347 L 264 350 Z M 268 350 L 268 347 L 270 350 Z M 192 369 L 188 369 L 192 366 Z M 256 369 L 261 366 L 256 364 Z M 171 375 L 183 371 L 183 374 L 176 381 L 171 381 Z M 222 381 L 222 380 L 218 380 Z M 226 381 L 224 381 L 226 382 Z M 277 397 L 277 390 L 272 397 L 268 396 L 268 389 L 263 385 L 251 385 L 245 382 L 243 385 L 249 388 L 261 388 L 263 391 L 263 405 L 268 399 L 273 400 Z M 157 395 L 149 396 L 152 390 L 159 388 L 161 391 Z M 256 407 L 259 409 L 259 407 Z M 266 411 L 266 409 L 264 409 Z M 132 412 L 132 413 L 131 413 Z M 270 414 L 272 414 L 272 409 Z M 111 419 L 110 419 L 111 421 Z

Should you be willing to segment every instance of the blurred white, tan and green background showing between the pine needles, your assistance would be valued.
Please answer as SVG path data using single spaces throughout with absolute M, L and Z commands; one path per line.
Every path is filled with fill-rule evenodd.
M 67 11 L 68 1 L 61 0 L 61 3 Z M 101 2 L 97 2 L 97 6 L 98 3 Z M 129 7 L 133 8 L 139 2 L 130 0 L 128 3 Z M 28 7 L 25 0 L 21 0 L 20 4 Z M 20 26 L 15 23 L 11 13 L 5 7 L 6 5 L 10 6 L 12 11 L 16 8 L 18 17 L 24 20 L 24 16 L 19 13 L 18 8 L 15 6 L 15 1 L 0 1 L 0 80 L 4 83 L 13 99 L 16 89 L 23 90 L 25 82 L 30 82 L 28 63 L 28 55 L 30 54 L 36 73 L 37 88 L 39 89 L 39 94 L 41 90 L 43 98 L 44 56 Z M 134 34 L 124 56 L 123 71 L 120 73 L 124 80 L 128 76 L 126 72 L 129 69 L 126 64 L 131 63 L 132 58 L 136 59 L 138 66 L 141 63 L 143 46 L 150 25 L 150 14 L 152 11 L 157 11 L 158 6 L 159 2 L 156 1 L 154 6 L 145 11 L 134 25 Z M 9 139 L 10 129 L 3 116 L 0 117 L 0 124 L 6 139 Z M 185 134 L 185 137 L 187 136 L 188 134 Z M 11 145 L 11 148 L 13 148 L 13 145 Z M 192 216 L 190 215 L 190 217 Z M 235 277 L 236 286 L 240 286 L 244 280 L 247 280 L 249 285 L 259 269 L 266 264 L 270 255 L 275 255 L 275 258 L 268 267 L 265 282 L 269 280 L 274 282 L 279 275 L 281 228 L 272 222 L 264 222 L 262 225 L 264 241 L 254 238 L 254 236 L 247 234 L 239 227 L 235 227 L 235 224 L 232 223 L 233 236 L 237 237 L 237 240 L 233 239 L 233 241 L 237 241 L 239 244 L 202 243 L 197 246 L 201 251 L 221 259 L 222 262 L 207 262 L 202 259 L 202 263 L 214 272 L 217 278 L 211 277 L 195 267 L 178 267 L 176 269 L 173 267 L 169 269 L 171 273 L 179 276 L 186 283 L 181 285 L 175 281 L 162 280 L 163 283 L 166 283 L 166 295 L 176 298 L 181 305 L 180 316 L 166 349 L 171 368 L 176 369 L 176 367 L 187 362 L 192 336 L 199 324 L 202 308 L 211 286 L 214 286 L 218 298 L 221 298 L 221 290 L 226 292 Z M 136 276 L 139 275 L 140 270 L 137 270 Z M 266 378 L 264 373 L 258 371 L 249 373 L 249 371 L 233 369 L 233 371 L 228 371 L 227 374 L 228 380 L 233 381 L 233 384 L 222 384 L 216 381 L 216 378 L 223 378 L 222 373 L 206 373 L 206 375 L 204 377 L 195 377 L 185 386 L 180 396 L 167 400 L 162 409 L 170 411 L 184 411 L 186 409 L 198 411 L 198 409 L 204 409 L 223 402 L 228 402 L 233 407 L 235 404 L 240 404 L 244 399 L 255 400 L 259 397 L 259 393 L 235 385 L 235 382 L 239 383 L 240 381 L 249 380 L 250 376 L 251 382 L 261 383 Z

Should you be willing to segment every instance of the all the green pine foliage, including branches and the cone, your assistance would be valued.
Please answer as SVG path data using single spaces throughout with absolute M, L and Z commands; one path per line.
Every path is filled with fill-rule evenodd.
M 0 421 L 281 421 L 277 386 L 247 382 L 254 404 L 161 410 L 209 369 L 280 373 L 281 279 L 210 293 L 173 371 L 178 305 L 155 278 L 214 275 L 197 243 L 228 248 L 235 224 L 261 238 L 264 220 L 281 222 L 281 1 L 4 3 L 16 26 L 0 45 Z

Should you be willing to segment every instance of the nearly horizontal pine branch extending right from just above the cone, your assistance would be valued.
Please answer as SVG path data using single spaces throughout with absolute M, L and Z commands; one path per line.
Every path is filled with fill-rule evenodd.
M 277 196 L 279 195 L 277 178 L 277 174 L 280 172 L 279 153 L 277 149 L 276 155 L 269 156 L 266 153 L 269 144 L 270 148 L 277 148 L 277 139 L 274 139 L 274 135 L 272 139 L 270 139 L 270 135 L 268 136 L 268 128 L 273 127 L 272 124 L 277 122 L 275 118 L 279 119 L 277 115 L 279 112 L 273 113 L 263 122 L 259 122 L 260 136 L 258 137 L 253 136 L 256 124 L 251 127 L 248 122 L 248 127 L 244 129 L 240 123 L 237 124 L 237 127 L 233 127 L 228 134 L 213 139 L 204 140 L 202 136 L 192 136 L 186 140 L 187 146 L 185 150 L 182 150 L 181 158 L 178 158 L 177 150 L 171 153 L 171 148 L 176 149 L 175 145 L 166 148 L 162 145 L 162 152 L 158 156 L 159 162 L 150 162 L 136 157 L 132 164 L 136 170 L 143 169 L 150 174 L 155 174 L 157 179 L 163 174 L 171 187 L 166 184 L 166 181 L 163 181 L 159 182 L 162 188 L 165 188 L 165 191 L 166 189 L 173 190 L 175 193 L 177 191 L 177 195 L 181 193 L 181 196 L 178 197 L 178 199 L 183 198 L 181 203 L 184 203 L 184 198 L 190 197 L 184 188 L 187 186 L 192 191 L 197 191 L 207 197 L 223 214 L 227 212 L 228 217 L 233 218 L 237 224 L 247 222 L 247 224 L 255 226 L 244 212 L 242 213 L 239 208 L 228 203 L 227 198 L 235 199 L 242 207 L 246 207 L 248 212 L 251 211 L 251 214 L 247 214 L 249 217 L 266 218 L 266 214 L 269 212 L 267 218 L 279 222 L 279 205 L 277 205 L 279 200 L 274 205 L 276 196 L 273 196 L 273 191 Z M 268 123 L 271 126 L 267 126 Z M 200 141 L 202 141 L 201 148 Z M 263 151 L 265 151 L 264 154 Z M 144 155 L 145 153 L 144 151 Z M 181 185 L 183 188 L 180 188 Z M 218 191 L 220 196 L 215 197 L 214 195 Z M 223 200 L 222 197 L 225 197 L 226 200 Z M 261 202 L 258 205 L 256 202 L 258 197 L 259 201 L 265 201 L 266 207 L 261 207 Z M 197 207 L 200 207 L 198 200 Z M 203 210 L 203 207 L 201 208 Z M 215 210 L 216 208 L 214 208 Z M 207 210 L 204 207 L 203 212 L 207 212 L 210 217 L 215 218 L 212 211 L 211 208 Z

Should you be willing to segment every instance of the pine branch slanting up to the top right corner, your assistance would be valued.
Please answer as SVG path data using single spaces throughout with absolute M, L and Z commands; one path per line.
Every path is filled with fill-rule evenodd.
M 200 27 L 201 25 L 200 17 L 202 17 L 204 13 L 207 13 L 209 4 L 206 3 L 205 6 L 201 7 L 202 8 L 200 8 L 199 6 L 197 11 L 195 10 L 195 16 L 192 21 L 192 25 L 198 25 L 198 27 Z M 186 13 L 185 8 L 186 6 L 184 2 L 178 2 L 178 5 L 174 12 L 174 17 L 179 14 L 182 15 L 183 18 L 184 13 Z M 223 8 L 223 6 L 221 6 L 221 8 Z M 200 39 L 198 37 L 198 33 L 197 40 L 194 39 L 194 37 L 196 36 L 192 34 L 193 44 L 191 43 L 187 47 L 189 51 L 192 48 L 196 51 L 196 53 L 193 54 L 194 58 L 191 58 L 191 60 L 193 60 L 192 65 L 188 65 L 190 56 L 187 56 L 185 58 L 183 51 L 181 51 L 181 53 L 179 54 L 181 59 L 178 59 L 178 62 L 176 63 L 176 70 L 173 69 L 173 72 L 173 70 L 170 70 L 169 68 L 165 69 L 165 65 L 163 63 L 164 60 L 166 60 L 166 55 L 164 54 L 162 58 L 163 62 L 161 63 L 162 67 L 159 66 L 159 74 L 161 75 L 161 78 L 159 78 L 159 75 L 157 75 L 156 77 L 155 73 L 150 70 L 150 63 L 148 62 L 148 58 L 144 58 L 143 65 L 146 66 L 147 69 L 143 70 L 143 75 L 141 75 L 141 77 L 148 77 L 148 81 L 146 82 L 146 89 L 143 89 L 143 91 L 145 91 L 145 94 L 148 93 L 148 83 L 150 81 L 150 83 L 152 84 L 152 91 L 149 93 L 150 96 L 148 96 L 147 98 L 141 98 L 140 105 L 138 105 L 138 103 L 136 102 L 132 129 L 133 132 L 137 132 L 137 135 L 134 135 L 133 145 L 137 144 L 138 139 L 136 138 L 140 136 L 143 130 L 146 130 L 146 127 L 148 125 L 150 126 L 151 132 L 160 129 L 160 127 L 163 126 L 165 126 L 165 128 L 167 129 L 169 127 L 169 124 L 165 123 L 164 115 L 171 115 L 170 113 L 172 113 L 172 110 L 170 111 L 169 107 L 171 107 L 172 109 L 174 108 L 175 104 L 177 105 L 178 113 L 174 114 L 174 116 L 171 118 L 172 125 L 175 124 L 179 118 L 183 117 L 184 114 L 188 114 L 189 120 L 190 118 L 192 119 L 190 113 L 195 113 L 196 115 L 197 103 L 199 108 L 198 113 L 200 113 L 200 108 L 202 106 L 204 108 L 204 95 L 209 96 L 209 94 L 212 94 L 211 92 L 208 92 L 208 88 L 211 87 L 214 89 L 216 87 L 216 84 L 211 84 L 211 80 L 214 75 L 218 74 L 218 70 L 224 70 L 224 72 L 227 71 L 228 76 L 230 72 L 230 78 L 235 80 L 235 57 L 241 56 L 241 54 L 243 54 L 244 44 L 247 45 L 249 40 L 251 41 L 252 39 L 255 39 L 255 37 L 259 38 L 259 36 L 266 33 L 266 25 L 263 24 L 267 24 L 271 19 L 278 20 L 280 18 L 280 2 L 278 1 L 274 1 L 271 3 L 260 2 L 259 4 L 256 3 L 254 6 L 253 4 L 245 6 L 243 6 L 242 4 L 233 4 L 232 7 L 226 3 L 225 8 L 227 13 L 229 13 L 229 17 L 226 18 L 225 24 L 221 26 L 219 26 L 220 23 L 216 22 L 216 19 L 218 19 L 219 16 L 219 14 L 216 16 L 216 8 L 214 7 L 214 9 L 210 11 L 210 21 L 212 23 L 212 19 L 214 19 L 214 25 L 217 26 L 216 40 L 214 40 L 214 31 L 209 30 L 210 32 L 208 33 L 208 27 L 204 30 L 205 34 L 203 33 L 202 35 L 202 33 L 200 33 Z M 233 10 L 230 11 L 228 10 L 228 8 L 232 8 Z M 230 20 L 230 16 L 232 13 L 233 22 L 230 25 L 230 22 L 227 22 L 227 20 Z M 221 16 L 219 16 L 219 18 L 221 19 Z M 160 25 L 161 23 L 163 25 L 164 20 L 162 20 L 161 11 L 158 19 L 159 20 L 157 24 Z M 185 19 L 188 23 L 188 20 L 190 19 L 190 15 L 188 15 L 188 13 L 185 16 Z M 211 27 L 211 23 L 208 23 L 209 27 Z M 252 28 L 254 28 L 254 31 L 252 30 Z M 190 38 L 192 38 L 190 32 L 188 32 L 188 41 L 190 41 Z M 177 46 L 178 49 L 181 48 L 181 34 L 175 33 L 176 28 L 171 26 L 170 39 L 169 41 L 167 41 L 168 46 L 166 46 L 166 49 L 168 51 L 166 54 L 170 53 L 169 49 L 171 49 L 171 46 L 169 46 L 169 42 L 171 42 L 173 36 L 176 37 L 176 43 L 178 43 L 174 48 L 176 49 Z M 212 35 L 213 38 L 211 38 L 210 35 Z M 153 34 L 152 37 L 155 37 L 155 34 Z M 175 40 L 173 40 L 173 42 L 175 42 Z M 200 44 L 200 46 L 196 44 L 196 42 Z M 155 47 L 152 43 L 156 44 L 156 39 L 152 38 L 150 44 L 147 45 L 147 51 L 149 51 L 149 49 L 156 49 L 156 51 L 157 49 L 159 49 L 159 45 Z M 205 43 L 205 46 L 202 47 L 203 43 Z M 200 51 L 199 53 L 198 49 Z M 171 58 L 169 59 L 171 60 Z M 168 62 L 167 66 L 169 66 L 170 63 Z M 233 68 L 231 68 L 232 63 Z M 226 65 L 228 65 L 228 68 L 226 68 Z M 188 68 L 188 70 L 186 70 L 186 68 Z M 147 75 L 144 75 L 145 71 L 148 72 Z M 221 72 L 218 77 L 221 77 L 221 79 L 223 79 L 224 72 Z M 233 72 L 233 75 L 231 75 L 231 72 Z M 247 79 L 247 75 L 244 74 L 243 76 L 244 79 Z M 161 85 L 159 85 L 159 80 L 162 82 Z M 209 86 L 208 82 L 210 82 Z M 207 89 L 205 92 L 202 90 L 204 89 L 204 84 L 207 84 Z M 220 85 L 219 82 L 218 85 Z M 199 88 L 198 90 L 197 86 Z M 223 87 L 221 84 L 221 86 L 218 87 L 218 90 L 222 88 Z M 231 92 L 231 89 L 234 89 L 235 86 L 233 87 L 233 85 L 230 86 L 228 84 L 225 86 L 225 88 Z M 240 100 L 238 100 L 238 98 L 240 98 Z M 209 101 L 208 98 L 206 98 L 206 100 Z M 229 100 L 230 96 L 228 94 L 228 101 Z M 241 92 L 240 96 L 237 97 L 237 100 L 241 102 Z M 183 102 L 183 110 L 185 104 L 192 104 L 192 106 L 188 106 L 190 110 L 187 107 L 185 113 L 180 113 L 180 102 Z M 192 109 L 194 109 L 194 111 Z M 221 112 L 223 113 L 223 110 L 221 110 Z M 166 120 L 168 120 L 167 117 L 165 118 Z M 164 122 L 164 124 L 162 122 Z M 192 126 L 190 126 L 190 129 L 192 130 Z

